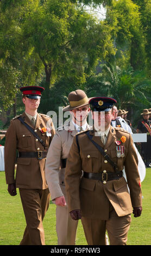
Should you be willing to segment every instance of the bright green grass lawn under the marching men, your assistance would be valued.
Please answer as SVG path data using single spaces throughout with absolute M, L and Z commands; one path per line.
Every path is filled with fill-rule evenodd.
M 142 182 L 143 212 L 141 217 L 134 218 L 128 234 L 128 245 L 151 245 L 151 168 L 147 169 Z M 24 218 L 19 192 L 11 197 L 5 184 L 5 174 L 0 172 L 1 225 L 0 245 L 18 245 L 22 239 L 26 221 Z M 43 220 L 46 245 L 57 245 L 55 231 L 55 205 L 50 204 Z M 87 245 L 81 222 L 78 224 L 77 245 Z

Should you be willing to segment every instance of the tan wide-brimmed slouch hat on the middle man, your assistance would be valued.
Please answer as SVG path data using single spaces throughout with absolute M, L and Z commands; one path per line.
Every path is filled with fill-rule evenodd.
M 71 92 L 68 95 L 68 101 L 70 105 L 63 108 L 64 112 L 73 110 L 75 108 L 83 107 L 85 105 L 89 105 L 88 97 L 86 96 L 85 92 L 80 89 Z

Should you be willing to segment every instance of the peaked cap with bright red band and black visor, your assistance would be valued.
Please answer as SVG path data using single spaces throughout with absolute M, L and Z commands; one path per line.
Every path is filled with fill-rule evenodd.
M 20 87 L 20 90 L 22 92 L 22 96 L 26 96 L 29 99 L 40 99 L 41 93 L 45 88 L 40 86 L 24 86 Z

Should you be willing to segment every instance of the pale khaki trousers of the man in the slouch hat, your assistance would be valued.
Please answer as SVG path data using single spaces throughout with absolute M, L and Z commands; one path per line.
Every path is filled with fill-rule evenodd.
M 72 220 L 68 212 L 65 186 L 61 186 L 66 199 L 66 206 L 56 205 L 56 233 L 58 245 L 75 245 L 78 221 Z

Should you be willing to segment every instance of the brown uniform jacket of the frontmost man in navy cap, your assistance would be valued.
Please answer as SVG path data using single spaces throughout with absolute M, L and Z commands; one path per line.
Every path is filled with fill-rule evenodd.
M 138 160 L 133 139 L 127 131 L 114 129 L 112 126 L 105 145 L 95 136 L 94 131 L 90 131 L 90 135 L 105 151 L 107 150 L 106 153 L 112 161 L 117 163 L 118 171 L 125 167 L 130 194 L 124 177 L 107 181 L 106 184 L 98 180 L 80 179 L 81 170 L 88 173 L 100 173 L 103 170 L 114 172 L 114 168 L 110 163 L 106 163 L 103 155 L 92 144 L 86 133 L 81 132 L 78 135 L 80 153 L 74 138 L 66 165 L 65 182 L 69 210 L 81 209 L 82 216 L 108 220 L 110 201 L 118 216 L 128 215 L 133 211 L 132 206 L 142 205 Z M 122 136 L 126 137 L 125 143 L 121 143 L 124 145 L 125 156 L 117 157 L 116 141 L 120 141 Z

